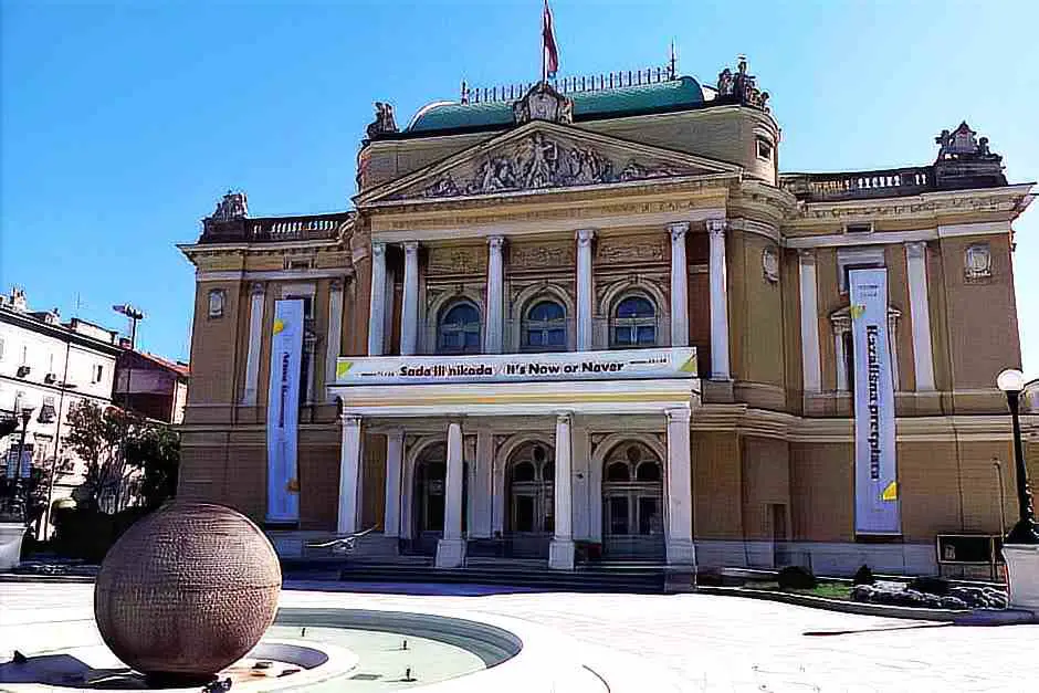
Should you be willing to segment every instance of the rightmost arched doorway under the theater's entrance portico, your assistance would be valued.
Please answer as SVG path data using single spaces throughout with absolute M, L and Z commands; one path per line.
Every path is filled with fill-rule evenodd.
M 663 462 L 638 441 L 615 445 L 602 469 L 602 554 L 663 560 Z

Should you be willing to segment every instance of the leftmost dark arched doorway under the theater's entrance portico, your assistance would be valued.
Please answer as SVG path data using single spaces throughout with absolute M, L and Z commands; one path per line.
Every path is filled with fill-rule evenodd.
M 434 556 L 443 536 L 448 474 L 448 447 L 434 443 L 414 463 L 411 547 L 418 554 Z M 462 474 L 462 533 L 468 529 L 469 465 Z

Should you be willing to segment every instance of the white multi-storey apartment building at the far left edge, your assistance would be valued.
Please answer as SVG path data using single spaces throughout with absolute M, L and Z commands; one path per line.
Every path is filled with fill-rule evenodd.
M 78 318 L 62 323 L 57 309 L 30 311 L 19 288 L 0 295 L 0 410 L 32 409 L 25 449 L 33 465 L 54 470 L 52 505 L 83 482 L 83 464 L 62 440 L 66 419 L 81 401 L 112 403 L 117 336 Z M 20 430 L 0 440 L 0 459 L 18 454 Z

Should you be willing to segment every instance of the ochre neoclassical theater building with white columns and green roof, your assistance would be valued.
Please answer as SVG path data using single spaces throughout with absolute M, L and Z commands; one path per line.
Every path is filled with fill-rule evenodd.
M 180 494 L 445 568 L 933 573 L 936 535 L 999 534 L 1030 185 L 966 124 L 780 174 L 777 115 L 744 61 L 463 86 L 377 104 L 349 211 L 229 193 L 181 246 Z

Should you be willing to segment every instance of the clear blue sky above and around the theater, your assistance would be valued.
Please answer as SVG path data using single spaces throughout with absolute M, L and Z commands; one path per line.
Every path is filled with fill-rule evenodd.
M 0 285 L 188 355 L 174 246 L 229 187 L 254 216 L 346 209 L 371 102 L 403 126 L 459 83 L 539 73 L 541 0 L 0 0 Z M 1012 181 L 1039 179 L 1033 0 L 553 2 L 560 76 L 662 64 L 713 83 L 737 53 L 773 94 L 783 170 L 933 160 L 967 119 Z M 1039 207 L 1037 204 L 1036 207 Z M 1026 371 L 1039 376 L 1039 211 L 1016 224 Z M 1029 272 L 1029 269 L 1031 270 Z

